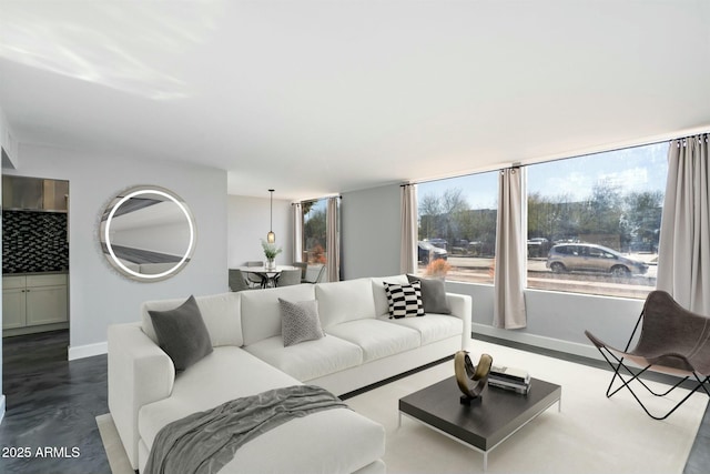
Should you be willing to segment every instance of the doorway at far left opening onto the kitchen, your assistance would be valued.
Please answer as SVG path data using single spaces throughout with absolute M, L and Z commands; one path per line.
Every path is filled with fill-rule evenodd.
M 2 337 L 69 345 L 69 181 L 2 177 Z M 67 361 L 67 350 L 61 355 Z

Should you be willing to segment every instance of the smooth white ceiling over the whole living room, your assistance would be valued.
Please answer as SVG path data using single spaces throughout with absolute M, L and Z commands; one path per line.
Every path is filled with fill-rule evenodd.
M 703 0 L 0 0 L 19 142 L 308 199 L 710 130 Z

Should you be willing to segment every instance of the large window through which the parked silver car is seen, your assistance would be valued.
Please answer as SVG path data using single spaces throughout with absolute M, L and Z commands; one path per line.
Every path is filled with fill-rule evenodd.
M 639 299 L 656 288 L 668 147 L 527 167 L 528 288 Z

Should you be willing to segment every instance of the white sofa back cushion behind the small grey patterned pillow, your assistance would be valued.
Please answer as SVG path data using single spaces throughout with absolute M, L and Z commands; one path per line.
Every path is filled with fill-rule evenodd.
M 246 291 L 241 292 L 241 294 L 244 345 L 251 345 L 276 335 L 281 336 L 280 297 L 286 301 L 315 299 L 315 290 L 310 284 Z M 322 306 L 320 310 L 323 313 Z

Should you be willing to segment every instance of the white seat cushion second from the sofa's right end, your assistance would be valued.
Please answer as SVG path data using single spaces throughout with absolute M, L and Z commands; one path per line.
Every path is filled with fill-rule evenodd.
M 364 362 L 416 349 L 420 344 L 416 330 L 378 320 L 348 321 L 326 329 L 325 333 L 357 344 L 363 350 Z

